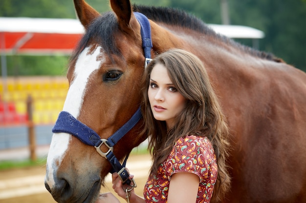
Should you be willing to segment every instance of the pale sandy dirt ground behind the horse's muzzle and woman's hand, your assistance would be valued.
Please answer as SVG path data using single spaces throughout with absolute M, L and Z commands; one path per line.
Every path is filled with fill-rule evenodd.
M 129 158 L 128 164 L 130 160 L 132 161 L 132 163 L 133 161 L 139 161 L 141 163 L 142 160 L 146 160 L 146 161 L 150 160 L 150 155 L 131 155 Z M 149 171 L 149 168 L 147 169 L 147 171 Z M 3 183 L 8 182 L 8 183 L 14 184 L 14 181 L 15 181 L 16 185 L 18 185 L 18 180 L 24 179 L 26 177 L 39 177 L 39 179 L 42 179 L 42 180 L 39 180 L 39 186 L 42 189 L 42 191 L 37 192 L 37 194 L 33 194 L 33 195 L 24 195 L 21 197 L 11 197 L 8 199 L 0 198 L 0 203 L 56 203 L 53 200 L 50 193 L 46 189 L 44 190 L 42 188 L 44 187 L 44 179 L 43 179 L 44 174 L 45 174 L 44 166 L 27 167 L 27 168 L 22 168 L 22 169 L 1 170 L 0 171 L 0 193 L 1 193 L 1 189 L 2 190 L 6 189 Z M 134 179 L 137 184 L 135 191 L 137 194 L 142 195 L 143 187 L 145 185 L 147 177 L 146 175 L 140 175 L 140 178 L 137 178 L 136 172 L 132 174 L 135 174 Z M 19 189 L 20 188 L 16 189 L 16 192 L 18 192 Z M 106 187 L 101 189 L 101 193 L 109 192 L 109 191 L 112 192 L 116 196 L 116 194 L 113 192 L 111 183 L 107 183 Z M 120 200 L 121 203 L 126 203 L 126 201 L 123 200 L 122 198 L 118 198 L 118 199 Z

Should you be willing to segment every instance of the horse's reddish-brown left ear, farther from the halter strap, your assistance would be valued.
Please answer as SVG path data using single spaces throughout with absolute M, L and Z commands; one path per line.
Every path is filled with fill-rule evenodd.
M 92 8 L 85 0 L 73 0 L 75 11 L 82 25 L 87 29 L 90 22 L 100 16 L 100 14 Z

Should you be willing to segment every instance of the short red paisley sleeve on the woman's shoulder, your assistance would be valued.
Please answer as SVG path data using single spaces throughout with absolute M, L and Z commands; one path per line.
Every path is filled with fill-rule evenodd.
M 175 142 L 166 164 L 167 176 L 177 172 L 197 174 L 200 182 L 208 177 L 208 171 L 216 157 L 211 143 L 207 138 L 184 136 Z

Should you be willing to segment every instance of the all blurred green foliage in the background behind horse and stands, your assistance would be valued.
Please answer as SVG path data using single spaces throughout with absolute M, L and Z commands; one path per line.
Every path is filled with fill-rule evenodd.
M 110 10 L 109 0 L 87 2 L 100 13 Z M 206 23 L 221 23 L 220 0 L 131 0 L 131 3 L 175 7 L 194 14 Z M 265 37 L 260 39 L 260 50 L 271 52 L 287 63 L 306 71 L 306 0 L 228 0 L 228 5 L 231 24 L 251 26 L 265 33 Z M 75 18 L 75 11 L 72 0 L 0 0 L 0 16 Z M 251 40 L 239 41 L 246 45 L 252 43 Z M 23 70 L 23 61 L 29 64 L 31 59 L 19 57 L 18 71 L 14 71 L 16 65 L 9 66 L 9 74 L 26 74 L 26 70 L 31 69 L 40 69 L 37 72 L 31 71 L 31 74 L 42 74 L 45 70 L 52 74 L 63 74 L 63 71 L 56 70 L 65 70 L 66 62 L 59 57 L 45 58 L 44 62 L 34 62 L 33 59 L 32 65 L 26 65 Z M 60 60 L 60 64 L 52 65 L 52 60 Z M 44 64 L 49 66 L 43 68 L 46 67 Z

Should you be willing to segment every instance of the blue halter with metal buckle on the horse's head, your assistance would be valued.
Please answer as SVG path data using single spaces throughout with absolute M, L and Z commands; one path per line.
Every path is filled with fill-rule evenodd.
M 141 13 L 134 12 L 134 15 L 140 23 L 142 47 L 144 49 L 144 55 L 146 57 L 145 67 L 147 67 L 148 63 L 152 60 L 151 49 L 153 47 L 150 22 L 148 18 Z M 77 137 L 84 144 L 94 146 L 101 156 L 109 160 L 109 163 L 113 168 L 112 172 L 117 172 L 123 183 L 131 185 L 131 180 L 129 179 L 130 174 L 125 168 L 128 156 L 124 160 L 122 166 L 119 160 L 113 154 L 113 146 L 138 123 L 140 118 L 141 111 L 140 108 L 138 108 L 138 110 L 134 113 L 131 119 L 127 123 L 125 123 L 120 129 L 118 129 L 108 139 L 101 139 L 100 136 L 93 129 L 90 129 L 85 124 L 78 121 L 70 113 L 62 111 L 59 114 L 59 117 L 55 123 L 55 126 L 52 129 L 52 132 L 66 132 Z M 107 152 L 101 151 L 101 146 L 103 144 L 108 148 Z M 135 183 L 133 184 L 135 185 Z

